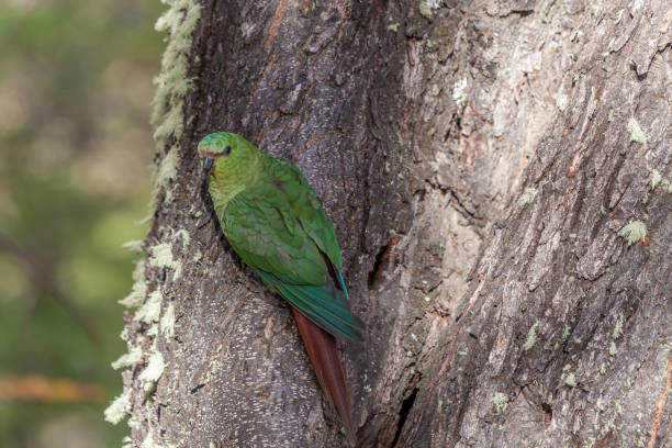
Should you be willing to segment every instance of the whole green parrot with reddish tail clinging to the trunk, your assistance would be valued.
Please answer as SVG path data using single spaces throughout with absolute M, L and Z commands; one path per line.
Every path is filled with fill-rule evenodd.
M 290 303 L 317 380 L 355 441 L 335 337 L 359 341 L 363 324 L 350 312 L 340 248 L 317 195 L 299 168 L 237 134 L 210 134 L 198 150 L 226 239 Z

